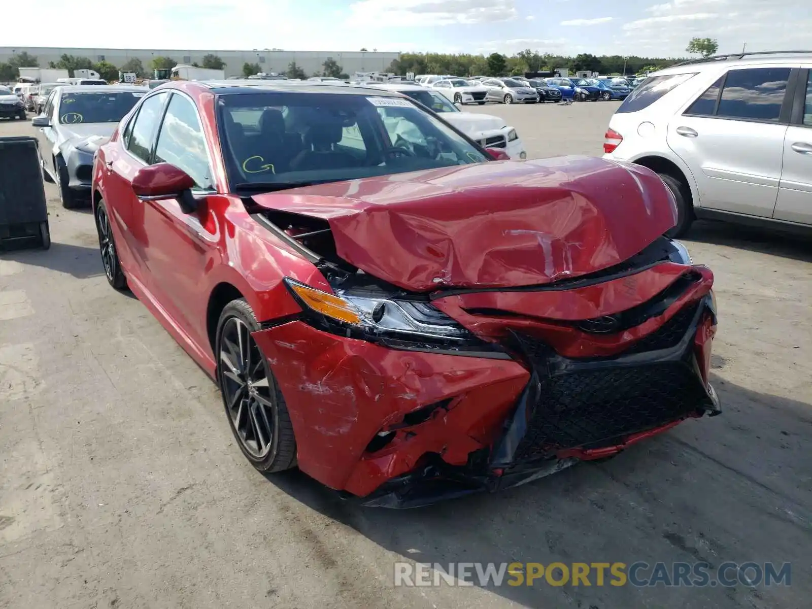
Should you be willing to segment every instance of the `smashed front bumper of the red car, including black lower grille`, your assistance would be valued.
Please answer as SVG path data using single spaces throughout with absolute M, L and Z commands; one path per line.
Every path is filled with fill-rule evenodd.
M 561 356 L 513 333 L 523 363 L 395 351 L 288 322 L 254 334 L 305 473 L 365 505 L 410 508 L 612 456 L 718 414 L 711 294 L 615 356 Z

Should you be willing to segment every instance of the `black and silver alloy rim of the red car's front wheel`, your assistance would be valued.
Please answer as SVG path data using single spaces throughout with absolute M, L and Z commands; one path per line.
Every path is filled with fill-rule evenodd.
M 238 317 L 222 326 L 219 358 L 220 387 L 231 424 L 248 454 L 264 459 L 274 447 L 274 387 L 257 343 Z

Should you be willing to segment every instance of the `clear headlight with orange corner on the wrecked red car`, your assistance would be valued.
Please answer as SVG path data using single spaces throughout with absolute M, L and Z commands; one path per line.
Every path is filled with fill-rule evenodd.
M 319 330 L 409 351 L 508 359 L 501 348 L 486 343 L 425 300 L 335 294 L 286 278 L 308 321 Z

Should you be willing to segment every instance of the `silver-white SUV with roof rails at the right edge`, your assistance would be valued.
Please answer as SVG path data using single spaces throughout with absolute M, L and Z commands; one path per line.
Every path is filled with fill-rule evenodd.
M 723 55 L 654 72 L 618 107 L 605 158 L 656 171 L 694 218 L 812 227 L 812 51 Z

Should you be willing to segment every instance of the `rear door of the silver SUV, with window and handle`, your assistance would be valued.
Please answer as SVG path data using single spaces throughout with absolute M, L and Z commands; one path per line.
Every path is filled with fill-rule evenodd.
M 790 67 L 729 70 L 668 123 L 702 208 L 771 218 L 792 100 Z

